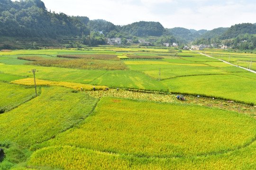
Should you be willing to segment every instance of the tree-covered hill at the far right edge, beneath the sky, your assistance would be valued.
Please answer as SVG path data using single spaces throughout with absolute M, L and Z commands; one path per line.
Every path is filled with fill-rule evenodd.
M 236 24 L 231 26 L 225 33 L 220 36 L 221 40 L 236 38 L 242 34 L 256 34 L 256 25 L 251 23 Z

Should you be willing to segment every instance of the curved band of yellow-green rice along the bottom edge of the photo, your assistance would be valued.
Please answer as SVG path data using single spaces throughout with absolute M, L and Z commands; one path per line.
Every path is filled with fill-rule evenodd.
M 73 146 L 53 146 L 33 153 L 28 165 L 64 170 L 254 170 L 255 155 L 256 142 L 234 152 L 167 159 L 102 153 Z

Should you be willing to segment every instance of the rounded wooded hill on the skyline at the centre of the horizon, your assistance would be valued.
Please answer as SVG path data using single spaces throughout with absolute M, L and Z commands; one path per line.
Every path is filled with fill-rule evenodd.
M 121 27 L 121 32 L 135 36 L 161 36 L 165 28 L 159 22 L 135 22 Z

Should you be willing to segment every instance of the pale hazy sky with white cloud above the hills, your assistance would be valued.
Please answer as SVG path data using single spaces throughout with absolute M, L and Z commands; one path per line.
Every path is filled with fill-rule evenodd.
M 160 22 L 165 28 L 212 30 L 256 23 L 256 0 L 42 0 L 48 11 L 115 25 Z

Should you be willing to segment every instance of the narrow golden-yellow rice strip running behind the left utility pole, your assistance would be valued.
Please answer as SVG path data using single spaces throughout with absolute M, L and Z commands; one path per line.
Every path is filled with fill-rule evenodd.
M 34 78 L 25 78 L 20 80 L 12 81 L 13 84 L 18 85 L 35 85 Z M 85 90 L 93 90 L 93 87 L 95 87 L 96 90 L 104 90 L 107 86 L 93 86 L 93 85 L 85 85 L 82 83 L 70 83 L 70 82 L 56 82 L 56 81 L 48 81 L 48 80 L 40 80 L 36 79 L 37 85 L 56 85 L 56 86 L 63 86 L 72 88 L 79 91 L 85 91 Z M 81 90 L 82 88 L 82 90 Z

